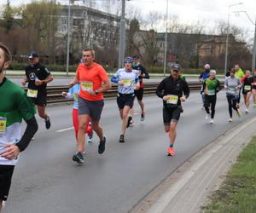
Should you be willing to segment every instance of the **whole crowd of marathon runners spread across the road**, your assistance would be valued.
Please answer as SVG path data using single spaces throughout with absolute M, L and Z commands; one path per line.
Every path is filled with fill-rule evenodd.
M 45 128 L 50 129 L 51 123 L 46 112 L 47 83 L 54 78 L 49 70 L 39 62 L 38 53 L 28 55 L 30 64 L 26 67 L 22 85 L 27 84 L 27 90 L 12 83 L 5 77 L 6 70 L 11 62 L 9 49 L 0 43 L 0 212 L 3 201 L 8 199 L 9 188 L 15 164 L 19 153 L 26 149 L 29 142 L 38 130 L 35 118 L 36 107 L 38 116 L 44 118 Z M 84 164 L 85 135 L 88 142 L 92 142 L 93 133 L 99 138 L 98 153 L 105 151 L 107 138 L 100 124 L 104 107 L 103 93 L 111 89 L 112 83 L 118 85 L 117 107 L 121 119 L 119 142 L 125 142 L 125 132 L 134 124 L 134 101 L 137 98 L 140 107 L 140 119 L 144 122 L 146 116 L 143 103 L 143 78 L 149 78 L 147 69 L 141 65 L 139 55 L 125 57 L 124 67 L 120 68 L 108 78 L 104 68 L 95 62 L 95 51 L 84 49 L 82 60 L 77 68 L 73 81 L 69 83 L 68 92 L 62 92 L 66 98 L 73 99 L 73 127 L 77 152 L 72 159 L 77 164 Z M 183 112 L 182 103 L 189 98 L 189 85 L 181 74 L 182 67 L 175 63 L 171 66 L 170 76 L 164 78 L 156 89 L 156 95 L 162 100 L 162 117 L 164 130 L 169 141 L 166 153 L 175 155 L 174 143 L 177 136 L 177 123 Z M 202 109 L 206 111 L 206 119 L 214 123 L 217 95 L 221 89 L 226 89 L 226 99 L 230 114 L 229 122 L 233 119 L 233 110 L 241 117 L 241 94 L 249 112 L 250 97 L 253 95 L 253 107 L 256 107 L 256 71 L 243 72 L 236 65 L 227 73 L 224 86 L 218 80 L 216 71 L 209 64 L 201 73 Z M 4 100 L 4 101 L 3 101 Z M 20 131 L 22 119 L 26 122 L 26 130 Z M 22 135 L 22 136 L 21 136 Z

